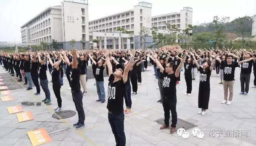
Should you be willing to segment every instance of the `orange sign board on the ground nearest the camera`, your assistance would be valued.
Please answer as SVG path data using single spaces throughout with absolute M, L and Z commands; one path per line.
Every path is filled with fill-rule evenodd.
M 29 139 L 33 146 L 38 146 L 40 144 L 46 144 L 46 143 L 52 141 L 50 135 L 46 132 L 46 130 L 44 128 L 29 131 L 29 132 L 27 132 L 27 134 L 29 135 Z

